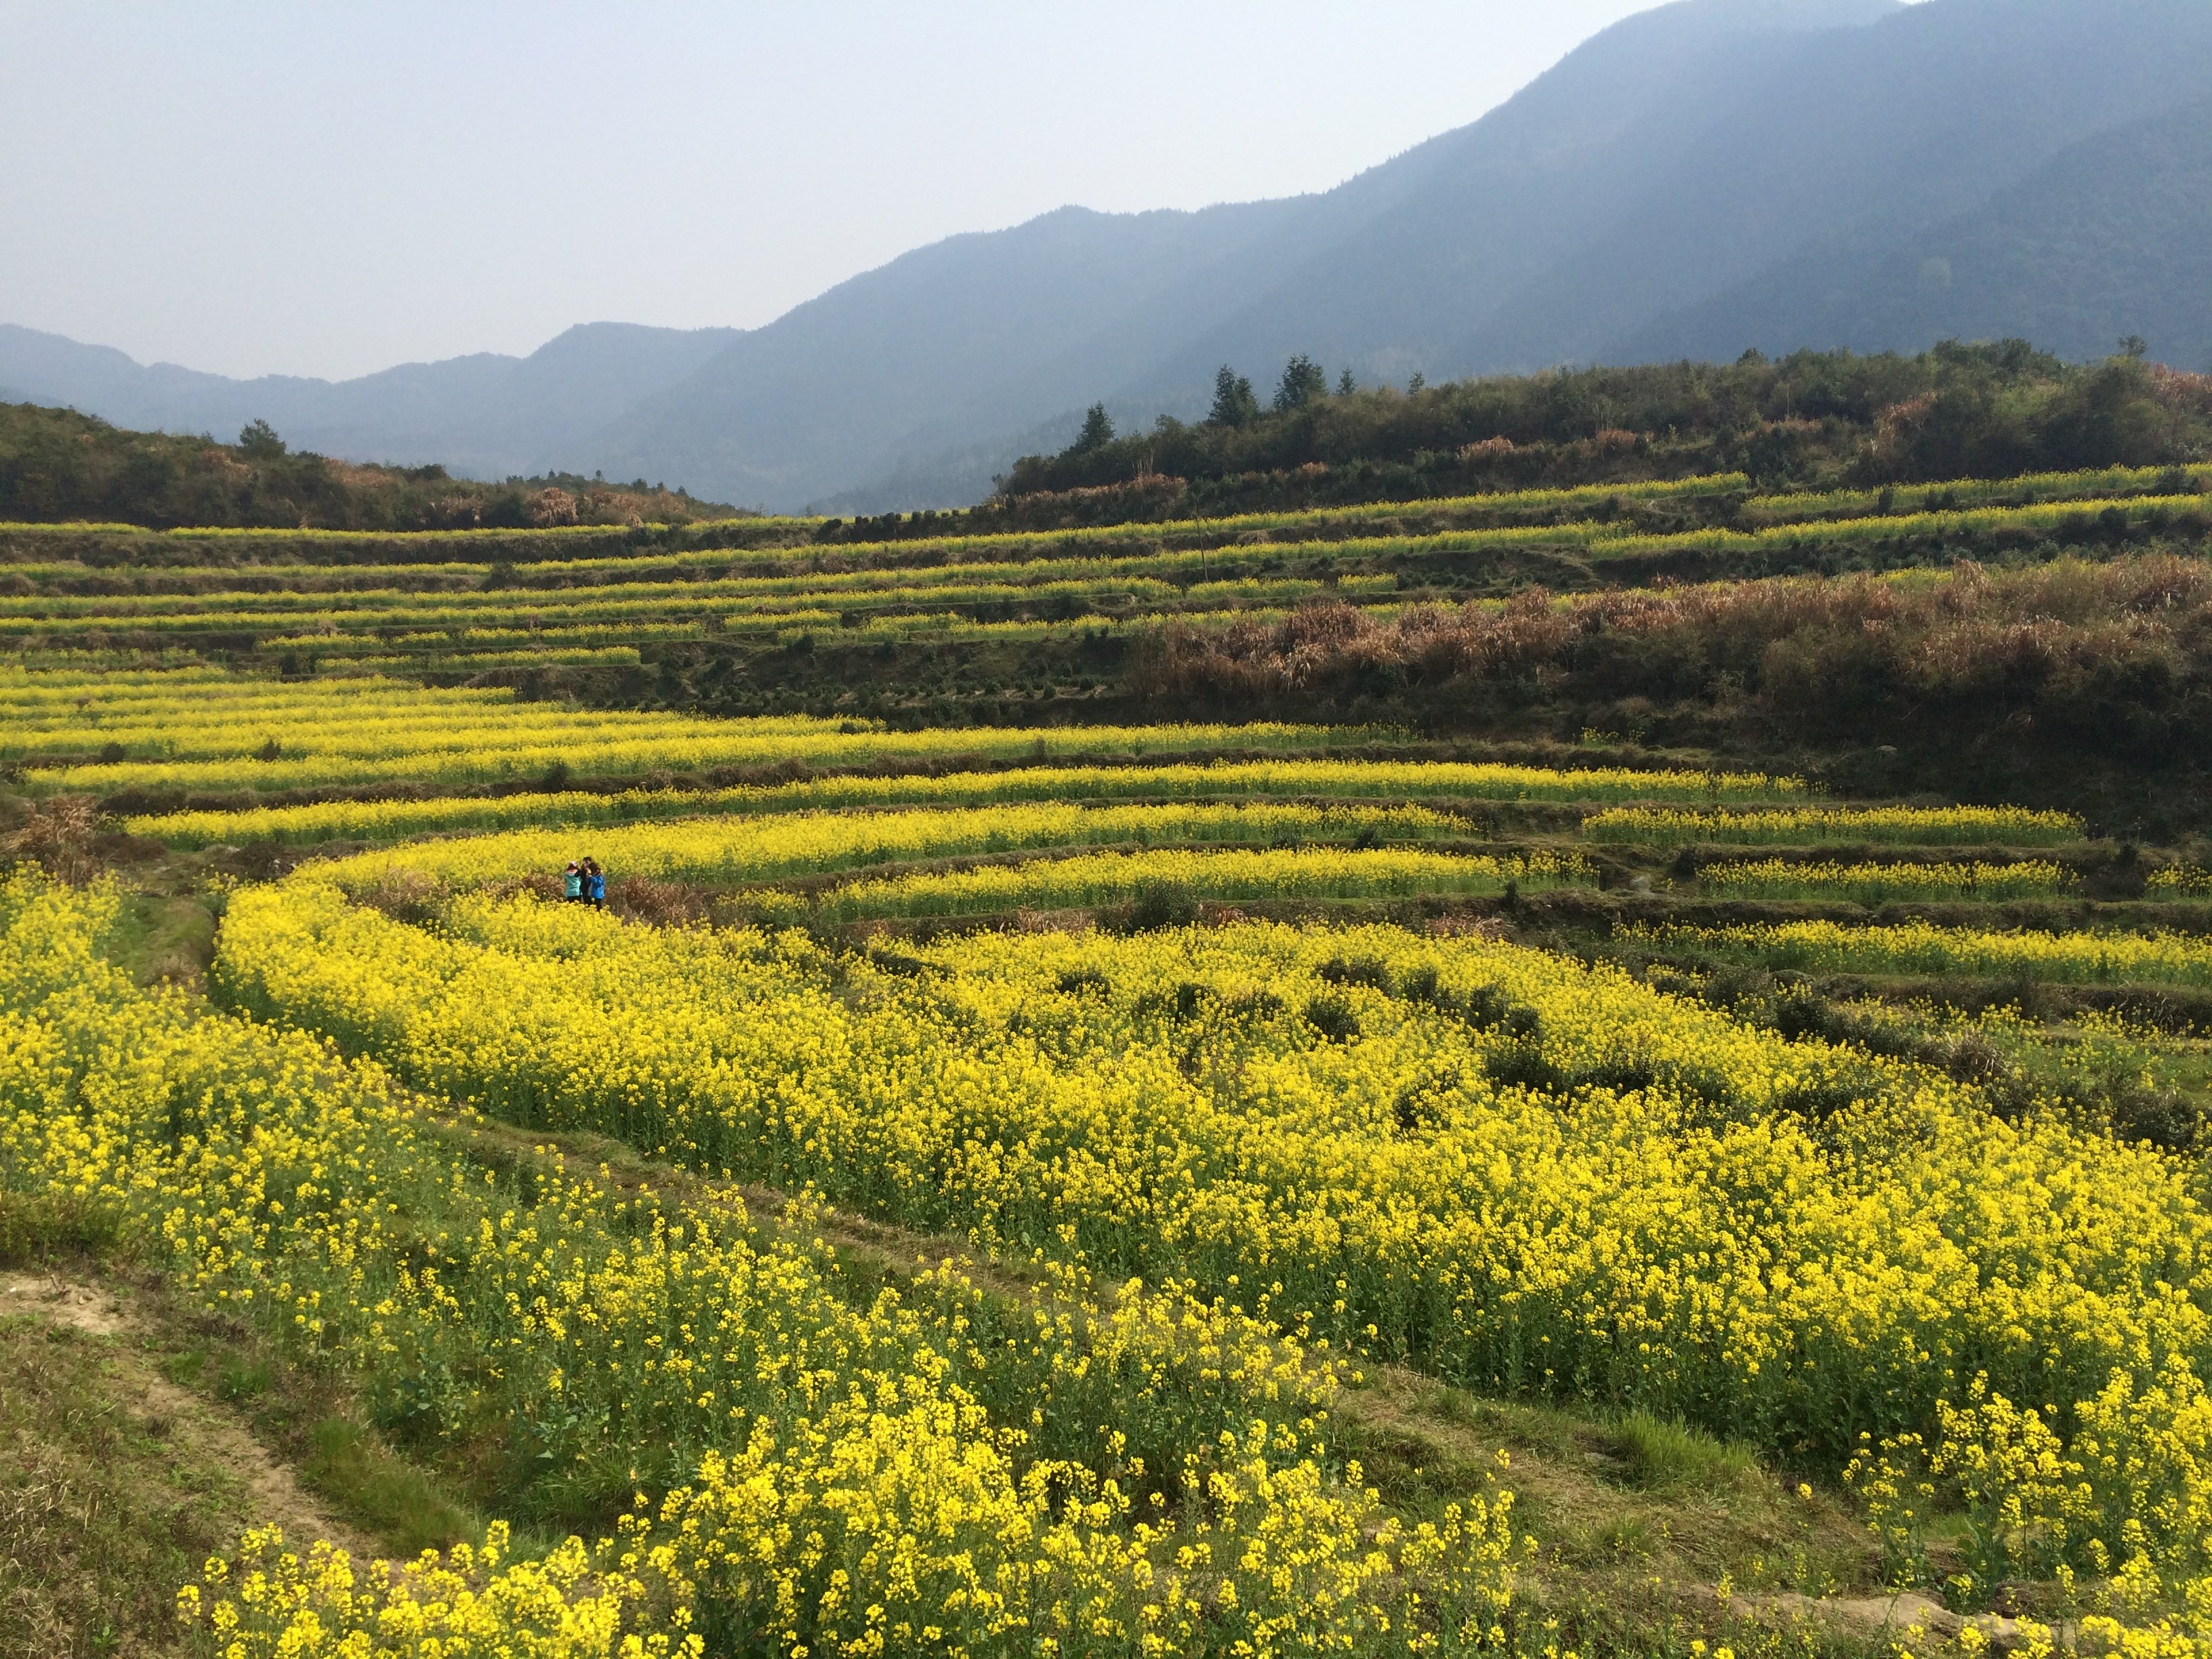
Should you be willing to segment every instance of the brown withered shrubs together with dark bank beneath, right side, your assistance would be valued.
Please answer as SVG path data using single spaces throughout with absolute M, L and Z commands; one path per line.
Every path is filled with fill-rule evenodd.
M 2163 553 L 2024 571 L 1790 577 L 1411 606 L 1305 606 L 1172 628 L 1139 670 L 1192 710 L 1396 717 L 1498 730 L 1586 717 L 1652 741 L 1732 730 L 1801 743 L 2095 745 L 2137 763 L 2212 752 L 2212 566 Z

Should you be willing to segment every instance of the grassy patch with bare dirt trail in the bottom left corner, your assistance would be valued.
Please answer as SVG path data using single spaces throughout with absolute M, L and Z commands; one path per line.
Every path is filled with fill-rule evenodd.
M 268 1524 L 356 1562 L 482 1531 L 239 1323 L 93 1261 L 0 1272 L 0 1650 L 195 1655 L 177 1588 Z

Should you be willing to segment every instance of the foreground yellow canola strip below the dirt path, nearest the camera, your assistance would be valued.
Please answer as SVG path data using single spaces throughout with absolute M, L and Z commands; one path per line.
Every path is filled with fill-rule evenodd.
M 1334 1360 L 1221 1301 L 856 1301 L 734 1201 L 473 1166 L 374 1064 L 139 991 L 113 925 L 113 891 L 0 887 L 9 1197 L 549 1493 L 657 1491 L 520 1562 L 504 1526 L 376 1566 L 248 1533 L 179 1595 L 226 1655 L 1480 1646 L 1511 1601 L 1511 1498 L 1376 1515 L 1329 1464 Z

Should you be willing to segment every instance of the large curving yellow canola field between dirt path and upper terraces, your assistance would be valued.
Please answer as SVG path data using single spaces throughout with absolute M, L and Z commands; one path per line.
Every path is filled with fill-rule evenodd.
M 1971 1469 L 1982 1593 L 2124 1575 L 2141 1610 L 2212 1568 L 2177 1520 L 2212 1420 L 2208 1214 L 2157 1148 L 1480 936 L 836 951 L 546 905 L 498 858 L 447 867 L 467 885 L 425 927 L 349 900 L 372 869 L 234 894 L 221 1002 L 529 1130 L 1175 1285 L 1310 1352 L 1750 1438 L 1849 1480 L 1907 1555 L 1913 1482 Z

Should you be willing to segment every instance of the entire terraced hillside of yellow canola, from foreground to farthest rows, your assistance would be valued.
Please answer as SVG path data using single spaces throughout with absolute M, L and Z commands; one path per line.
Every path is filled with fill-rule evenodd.
M 2197 841 L 1621 734 L 522 677 L 1462 602 L 1533 551 L 2179 562 L 2205 482 L 498 566 L 9 531 L 0 1250 L 168 1310 L 215 1405 L 319 1400 L 347 1535 L 226 1537 L 161 1639 L 2199 1652 Z

